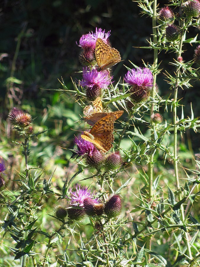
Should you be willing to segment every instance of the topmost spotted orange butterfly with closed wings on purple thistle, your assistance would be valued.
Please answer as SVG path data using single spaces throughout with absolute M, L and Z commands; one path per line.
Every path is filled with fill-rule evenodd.
M 95 45 L 95 55 L 98 71 L 108 69 L 121 61 L 119 52 L 115 48 L 107 45 L 101 38 L 97 38 Z

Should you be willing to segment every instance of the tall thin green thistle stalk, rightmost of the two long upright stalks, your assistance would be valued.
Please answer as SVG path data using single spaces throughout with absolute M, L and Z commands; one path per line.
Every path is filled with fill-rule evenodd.
M 180 14 L 181 14 L 181 5 L 182 2 L 180 3 Z M 182 21 L 180 21 L 180 26 L 181 28 L 183 28 L 183 23 Z M 180 39 L 180 44 L 179 44 L 179 50 L 177 52 L 177 57 L 180 57 L 182 54 L 182 47 L 183 47 L 183 37 L 184 37 L 184 31 L 182 30 L 181 32 L 181 39 Z M 179 184 L 179 177 L 178 177 L 178 157 L 177 157 L 177 93 L 178 93 L 178 88 L 179 88 L 179 79 L 180 77 L 180 68 L 177 67 L 176 70 L 176 81 L 175 81 L 175 85 L 174 85 L 174 101 L 173 101 L 173 123 L 174 123 L 174 172 L 175 172 L 175 179 L 176 179 L 176 188 L 177 188 L 177 192 L 178 192 L 178 199 L 179 201 L 181 200 L 181 190 L 180 190 L 180 184 Z M 184 222 L 185 219 L 185 215 L 184 215 L 184 209 L 183 209 L 183 205 L 180 206 L 180 211 L 181 211 L 181 219 Z M 191 253 L 191 249 L 190 249 L 190 243 L 189 243 L 189 237 L 188 237 L 188 233 L 184 233 L 185 235 L 185 239 L 186 239 L 186 246 L 187 246 L 187 250 L 188 250 L 188 254 L 189 257 L 192 259 L 192 253 Z

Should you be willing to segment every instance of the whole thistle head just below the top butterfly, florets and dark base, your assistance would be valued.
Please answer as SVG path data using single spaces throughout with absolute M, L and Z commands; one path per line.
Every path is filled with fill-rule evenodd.
M 86 87 L 85 93 L 90 101 L 94 101 L 102 94 L 102 88 L 108 88 L 111 82 L 109 71 L 97 71 L 96 69 L 83 69 L 83 80 L 80 85 Z

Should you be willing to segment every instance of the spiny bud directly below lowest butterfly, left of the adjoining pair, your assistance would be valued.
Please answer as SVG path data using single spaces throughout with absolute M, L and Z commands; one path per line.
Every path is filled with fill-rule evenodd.
M 92 154 L 85 155 L 85 162 L 90 168 L 99 169 L 100 166 L 103 164 L 104 155 L 102 152 L 98 151 L 96 148 L 92 151 Z

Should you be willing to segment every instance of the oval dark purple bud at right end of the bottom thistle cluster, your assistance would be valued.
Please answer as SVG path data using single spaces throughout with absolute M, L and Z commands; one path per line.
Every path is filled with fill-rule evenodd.
M 121 213 L 121 198 L 119 195 L 112 196 L 104 206 L 104 212 L 109 219 L 116 218 Z

